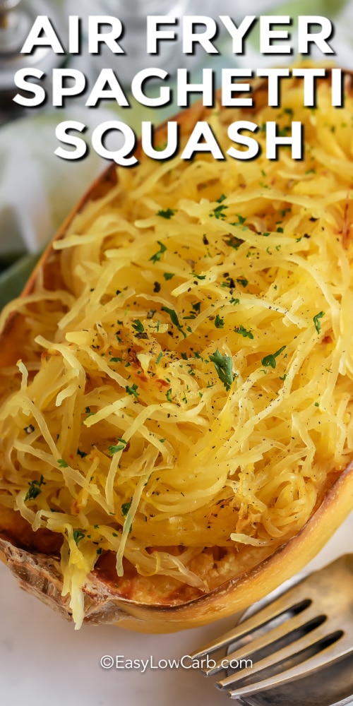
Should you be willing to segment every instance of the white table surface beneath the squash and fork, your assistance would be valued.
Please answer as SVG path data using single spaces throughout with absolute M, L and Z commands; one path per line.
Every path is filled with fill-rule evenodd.
M 353 514 L 308 568 L 352 551 Z M 115 626 L 73 630 L 26 594 L 0 566 L 0 702 L 4 706 L 221 706 L 227 696 L 196 669 L 158 668 L 232 626 L 232 618 L 171 635 L 140 635 Z M 103 655 L 150 659 L 154 668 L 103 669 Z M 155 668 L 157 666 L 157 668 Z M 141 668 L 142 669 L 142 668 Z

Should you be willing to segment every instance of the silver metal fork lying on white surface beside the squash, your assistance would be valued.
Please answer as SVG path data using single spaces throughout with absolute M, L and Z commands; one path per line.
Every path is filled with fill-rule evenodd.
M 294 585 L 291 582 L 289 589 L 288 583 L 279 596 L 277 590 L 275 599 L 271 594 L 265 606 L 261 602 L 263 607 L 236 628 L 193 652 L 191 658 L 200 664 L 208 656 L 203 659 L 203 664 L 208 664 L 202 669 L 203 674 L 225 672 L 227 676 L 215 686 L 227 690 L 227 695 L 242 704 L 293 703 L 292 698 L 277 701 L 273 695 L 280 693 L 279 688 L 285 693 L 288 686 L 293 687 L 294 680 L 296 689 L 301 685 L 299 690 L 303 690 L 304 683 L 312 685 L 316 681 L 322 696 L 323 689 L 327 693 L 330 690 L 324 686 L 328 674 L 339 674 L 340 684 L 337 697 L 326 702 L 342 706 L 352 703 L 348 695 L 353 693 L 353 659 L 350 659 L 353 658 L 353 554 L 341 556 L 304 579 L 297 579 Z M 227 657 L 223 654 L 218 659 L 210 658 L 224 648 Z M 244 673 L 245 660 L 248 662 Z M 267 701 L 266 694 L 270 692 L 271 700 Z M 305 702 L 303 693 L 298 702 Z

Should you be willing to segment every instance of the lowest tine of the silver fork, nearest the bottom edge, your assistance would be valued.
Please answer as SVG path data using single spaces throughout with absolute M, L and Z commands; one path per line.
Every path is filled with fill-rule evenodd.
M 310 676 L 310 674 L 313 674 L 313 672 L 316 672 L 318 669 L 323 669 L 325 666 L 328 665 L 332 666 L 335 662 L 342 659 L 342 657 L 347 656 L 348 654 L 351 654 L 353 652 L 353 647 L 350 644 L 350 641 L 343 640 L 343 642 L 345 643 L 344 645 L 342 644 L 341 640 L 337 640 L 336 645 L 329 645 L 328 647 L 325 647 L 322 652 L 319 652 L 318 654 L 313 654 L 312 657 L 309 657 L 309 659 L 304 659 L 304 662 L 301 662 L 296 666 L 290 667 L 289 669 L 285 669 L 285 671 L 277 673 L 274 676 L 265 677 L 261 681 L 258 681 L 256 683 L 252 682 L 248 685 L 236 687 L 235 690 L 228 690 L 227 693 L 231 698 L 240 698 L 256 694 L 260 691 L 269 689 L 274 686 L 277 688 L 277 686 L 280 686 L 281 684 L 284 684 L 289 681 L 293 681 L 294 679 L 300 678 L 301 676 Z M 314 644 L 315 643 L 313 642 L 313 645 Z M 292 654 L 293 653 L 290 652 L 290 656 L 292 656 Z M 278 652 L 278 656 L 279 655 L 280 652 Z M 270 657 L 269 659 L 270 662 L 267 666 L 273 666 L 273 658 L 271 659 Z M 262 666 L 264 668 L 264 663 L 268 662 L 268 659 L 265 659 L 262 662 Z M 260 664 L 261 663 L 258 662 L 258 664 L 256 664 L 256 667 Z M 278 664 L 278 662 L 276 664 Z M 258 670 L 256 670 L 256 673 L 257 672 Z M 251 676 L 253 677 L 253 672 L 251 673 Z M 236 681 L 240 681 L 241 678 L 244 677 L 241 677 L 240 675 L 236 676 L 236 678 L 234 679 L 234 675 L 232 675 L 231 677 L 228 677 L 225 680 L 216 683 L 215 686 L 217 688 L 225 689 L 227 688 L 227 686 L 232 686 L 234 683 L 236 683 Z

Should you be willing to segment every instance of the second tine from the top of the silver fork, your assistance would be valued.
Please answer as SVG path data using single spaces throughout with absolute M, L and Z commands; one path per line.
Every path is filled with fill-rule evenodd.
M 318 626 L 324 621 L 325 616 L 318 616 L 314 607 L 311 606 L 309 609 L 306 609 L 305 611 L 299 613 L 299 615 L 289 617 L 286 621 L 281 623 L 281 625 L 273 628 L 272 630 L 269 629 L 265 634 L 260 635 L 258 638 L 254 638 L 250 642 L 246 642 L 244 645 L 237 647 L 233 652 L 227 654 L 227 657 L 222 657 L 221 659 L 219 659 L 214 666 L 210 667 L 209 669 L 202 669 L 201 671 L 203 672 L 203 674 L 205 674 L 205 676 L 211 676 L 213 674 L 216 674 L 217 671 L 225 669 L 225 659 L 237 659 L 238 661 L 239 659 L 246 659 L 247 657 L 251 657 L 251 655 L 253 655 L 255 652 L 258 652 L 258 650 L 263 650 L 265 647 L 273 645 L 275 642 L 277 642 L 277 640 L 289 638 L 289 635 L 291 633 L 294 633 L 295 630 L 306 629 L 306 633 L 309 633 L 310 629 L 314 630 L 315 628 L 318 628 Z M 310 623 L 313 623 L 311 628 Z M 315 635 L 317 635 L 317 631 L 314 630 L 314 632 Z M 309 635 L 305 635 L 305 637 L 309 638 Z M 286 639 L 286 642 L 287 641 L 288 640 Z M 288 645 L 288 648 L 290 650 L 290 648 L 292 647 L 293 651 L 294 648 L 297 647 L 297 645 L 299 645 L 299 640 L 295 640 L 295 637 L 293 635 L 293 640 L 291 642 L 291 645 Z M 274 653 L 277 654 L 276 650 L 273 650 L 272 655 Z

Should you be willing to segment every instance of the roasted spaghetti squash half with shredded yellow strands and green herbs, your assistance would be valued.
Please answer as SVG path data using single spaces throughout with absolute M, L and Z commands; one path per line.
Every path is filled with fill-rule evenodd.
M 353 99 L 331 107 L 323 80 L 308 109 L 288 86 L 281 109 L 258 90 L 256 121 L 300 120 L 303 160 L 110 167 L 2 314 L 1 548 L 29 590 L 49 571 L 37 592 L 76 627 L 122 605 L 188 604 L 188 625 L 192 606 L 244 607 L 266 580 L 197 606 L 331 497 L 296 570 L 352 507 L 350 471 L 345 501 L 332 489 L 353 455 Z M 187 136 L 207 114 L 226 152 L 244 113 L 179 120 Z

